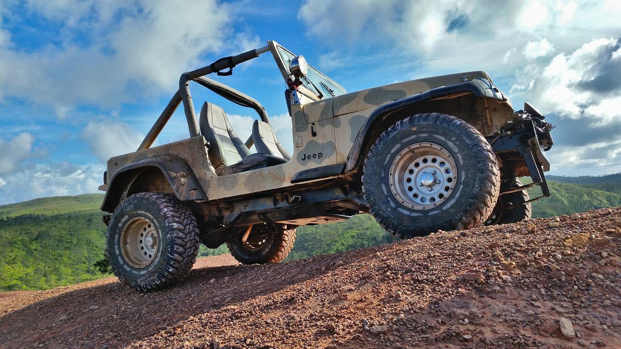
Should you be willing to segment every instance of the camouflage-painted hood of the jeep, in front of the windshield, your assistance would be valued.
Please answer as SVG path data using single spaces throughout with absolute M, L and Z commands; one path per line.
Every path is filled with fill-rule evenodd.
M 433 76 L 432 78 L 415 79 L 402 83 L 363 89 L 362 91 L 333 97 L 333 116 L 363 111 L 365 109 L 381 106 L 386 102 L 411 96 L 412 94 L 422 93 L 429 89 L 461 83 L 463 76 L 469 76 L 471 79 L 483 78 L 491 82 L 491 79 L 484 71 L 467 71 L 465 73 Z M 322 101 L 325 102 L 324 100 Z

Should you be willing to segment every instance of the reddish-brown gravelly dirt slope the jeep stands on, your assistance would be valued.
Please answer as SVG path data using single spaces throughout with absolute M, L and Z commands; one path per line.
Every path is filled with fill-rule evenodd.
M 620 245 L 615 208 L 281 265 L 222 256 L 150 294 L 108 278 L 0 297 L 0 347 L 621 348 Z

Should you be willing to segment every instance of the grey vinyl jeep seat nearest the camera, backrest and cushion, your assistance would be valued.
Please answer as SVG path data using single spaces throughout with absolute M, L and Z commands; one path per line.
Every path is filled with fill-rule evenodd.
M 209 142 L 207 155 L 215 173 L 240 173 L 286 163 L 282 157 L 265 153 L 251 154 L 230 125 L 229 117 L 219 106 L 204 102 L 199 119 L 201 134 Z

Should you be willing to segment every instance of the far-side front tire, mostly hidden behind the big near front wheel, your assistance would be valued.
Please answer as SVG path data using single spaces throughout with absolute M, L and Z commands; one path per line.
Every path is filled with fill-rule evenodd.
M 519 188 L 522 183 L 517 178 L 507 179 L 501 183 L 501 192 Z M 503 194 L 498 197 L 498 202 L 494 208 L 494 212 L 489 217 L 485 225 L 494 224 L 509 224 L 520 222 L 521 220 L 529 219 L 532 217 L 532 206 L 530 202 L 525 204 L 519 204 L 510 209 L 501 209 L 502 206 L 509 206 L 517 204 L 518 202 L 528 201 L 530 197 L 526 189 L 522 191 L 516 191 L 515 193 Z

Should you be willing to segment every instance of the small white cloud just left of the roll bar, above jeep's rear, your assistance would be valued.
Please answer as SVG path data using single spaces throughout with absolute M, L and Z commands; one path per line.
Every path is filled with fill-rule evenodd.
M 82 137 L 99 160 L 135 152 L 145 138 L 121 121 L 91 121 L 82 130 Z

